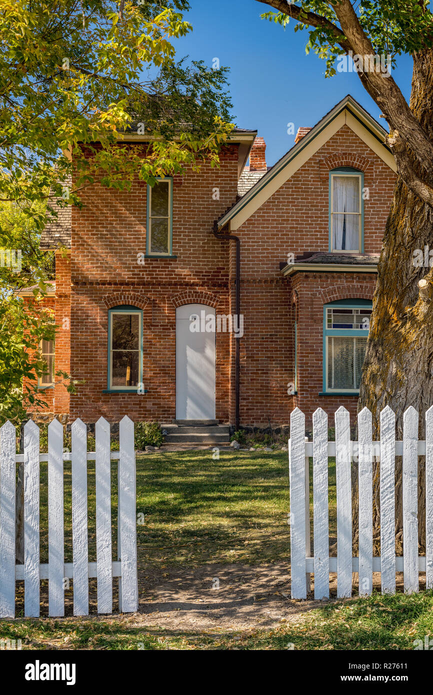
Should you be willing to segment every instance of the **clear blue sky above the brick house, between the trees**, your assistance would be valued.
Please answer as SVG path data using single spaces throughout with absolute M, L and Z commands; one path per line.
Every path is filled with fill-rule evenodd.
M 230 67 L 229 83 L 235 122 L 256 128 L 265 138 L 266 160 L 272 165 L 293 146 L 287 124 L 313 126 L 346 94 L 379 118 L 379 109 L 355 73 L 325 79 L 325 63 L 305 54 L 307 31 L 286 31 L 260 15 L 272 8 L 256 0 L 190 0 L 186 19 L 190 35 L 176 42 L 178 57 Z M 412 60 L 398 59 L 393 77 L 409 99 Z M 384 120 L 382 123 L 386 126 Z

